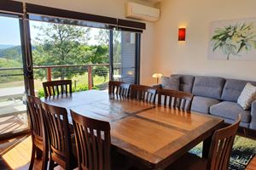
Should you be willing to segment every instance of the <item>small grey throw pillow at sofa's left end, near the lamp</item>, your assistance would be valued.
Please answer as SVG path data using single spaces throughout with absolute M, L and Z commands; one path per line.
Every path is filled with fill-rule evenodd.
M 161 77 L 162 88 L 169 90 L 179 90 L 180 77 Z

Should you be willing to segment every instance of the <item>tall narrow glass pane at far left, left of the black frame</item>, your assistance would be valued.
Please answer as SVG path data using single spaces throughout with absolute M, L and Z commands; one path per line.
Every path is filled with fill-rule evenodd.
M 20 20 L 0 16 L 0 136 L 28 127 Z

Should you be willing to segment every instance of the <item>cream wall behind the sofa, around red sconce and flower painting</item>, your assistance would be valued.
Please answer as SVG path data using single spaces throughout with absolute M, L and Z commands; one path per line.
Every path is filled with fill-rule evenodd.
M 163 0 L 155 24 L 154 70 L 256 80 L 256 61 L 207 59 L 209 24 L 214 20 L 256 17 L 255 0 Z M 187 27 L 177 42 L 178 26 Z M 256 59 L 256 56 L 255 56 Z

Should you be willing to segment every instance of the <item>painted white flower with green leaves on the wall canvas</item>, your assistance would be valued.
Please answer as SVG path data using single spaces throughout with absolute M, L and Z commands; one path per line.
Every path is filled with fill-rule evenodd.
M 217 28 L 211 40 L 214 42 L 213 51 L 221 49 L 223 54 L 227 54 L 227 59 L 230 59 L 230 55 L 239 55 L 243 51 L 250 51 L 252 48 L 256 48 L 255 32 L 253 23 Z

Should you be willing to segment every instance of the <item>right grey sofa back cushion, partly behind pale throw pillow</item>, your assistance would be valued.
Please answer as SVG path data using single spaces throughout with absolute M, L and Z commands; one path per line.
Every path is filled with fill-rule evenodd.
M 221 95 L 221 99 L 226 101 L 234 101 L 236 102 L 239 98 L 241 91 L 250 81 L 244 80 L 236 80 L 236 79 L 227 79 L 224 85 L 223 93 Z M 254 86 L 256 86 L 256 82 L 251 82 Z

